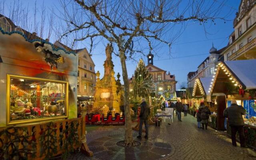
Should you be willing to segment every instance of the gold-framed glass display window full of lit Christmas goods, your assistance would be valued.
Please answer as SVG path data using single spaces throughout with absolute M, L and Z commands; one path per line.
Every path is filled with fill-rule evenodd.
M 7 75 L 7 125 L 68 117 L 68 82 Z

